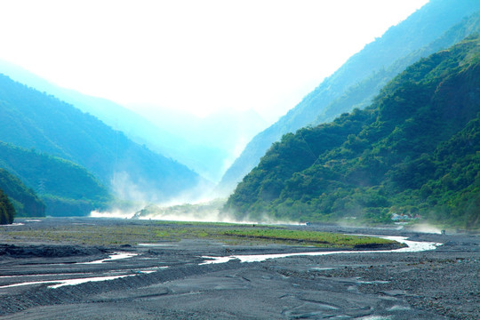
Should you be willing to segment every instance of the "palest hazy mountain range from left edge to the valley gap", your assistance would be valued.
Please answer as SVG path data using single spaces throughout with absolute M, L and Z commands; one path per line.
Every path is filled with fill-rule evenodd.
M 200 118 L 158 106 L 127 106 L 152 109 L 151 114 L 140 116 L 111 100 L 61 88 L 7 61 L 0 60 L 0 73 L 99 118 L 132 141 L 212 181 L 220 180 L 246 143 L 267 127 L 265 120 L 252 111 Z

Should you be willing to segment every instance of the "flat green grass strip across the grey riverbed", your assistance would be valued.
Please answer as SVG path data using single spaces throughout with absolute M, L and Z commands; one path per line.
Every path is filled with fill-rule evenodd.
M 394 244 L 369 236 L 348 236 L 308 230 L 197 222 L 172 224 L 125 224 L 115 226 L 66 225 L 4 232 L 7 241 L 39 241 L 62 244 L 121 245 L 175 242 L 181 239 L 203 239 L 228 244 L 290 244 L 323 247 L 354 247 L 361 244 Z

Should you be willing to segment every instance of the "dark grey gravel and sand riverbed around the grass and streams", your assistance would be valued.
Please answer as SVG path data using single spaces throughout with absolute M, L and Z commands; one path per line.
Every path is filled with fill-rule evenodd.
M 232 246 L 204 240 L 95 247 L 7 241 L 5 236 L 7 228 L 47 228 L 72 221 L 79 220 L 1 227 L 0 286 L 124 277 L 59 288 L 50 288 L 52 284 L 0 288 L 0 319 L 480 319 L 478 236 L 395 228 L 292 227 L 409 236 L 443 245 L 427 252 L 356 252 L 206 265 L 201 265 L 202 256 L 315 249 L 279 244 Z M 99 264 L 76 263 L 105 259 L 112 252 L 138 255 Z

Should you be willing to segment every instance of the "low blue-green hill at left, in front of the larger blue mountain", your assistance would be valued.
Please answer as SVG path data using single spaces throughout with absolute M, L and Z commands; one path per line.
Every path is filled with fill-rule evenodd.
M 3 188 L 13 200 L 18 216 L 78 216 L 95 209 L 106 209 L 113 200 L 108 189 L 92 173 L 78 164 L 0 142 L 0 167 L 18 177 L 36 194 L 46 208 L 29 205 L 25 196 L 15 196 L 12 188 Z M 38 200 L 36 198 L 36 200 Z M 32 200 L 33 201 L 33 200 Z M 20 210 L 20 205 L 24 206 Z

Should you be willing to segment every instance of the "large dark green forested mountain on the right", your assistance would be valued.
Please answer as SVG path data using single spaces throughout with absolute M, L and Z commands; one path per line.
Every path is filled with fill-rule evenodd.
M 237 218 L 467 228 L 480 216 L 480 36 L 407 68 L 372 105 L 284 135 L 228 198 Z

